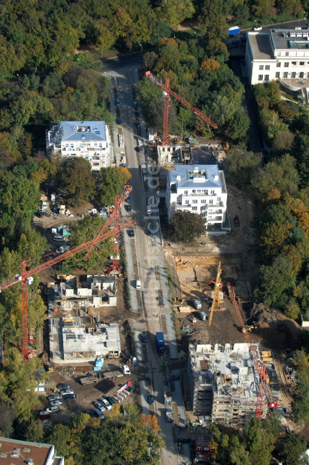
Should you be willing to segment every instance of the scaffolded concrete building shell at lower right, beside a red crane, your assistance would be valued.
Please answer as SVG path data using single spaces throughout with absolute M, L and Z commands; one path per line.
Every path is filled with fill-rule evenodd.
M 260 357 L 259 345 L 252 345 Z M 231 426 L 255 417 L 259 375 L 247 343 L 190 345 L 188 363 L 195 415 Z M 264 399 L 262 419 L 267 410 Z

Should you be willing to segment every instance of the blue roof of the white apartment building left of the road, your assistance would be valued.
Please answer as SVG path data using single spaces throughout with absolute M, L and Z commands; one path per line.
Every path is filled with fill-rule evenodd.
M 60 121 L 59 126 L 62 131 L 62 141 L 106 141 L 105 121 Z M 81 131 L 81 127 L 85 127 L 85 131 Z

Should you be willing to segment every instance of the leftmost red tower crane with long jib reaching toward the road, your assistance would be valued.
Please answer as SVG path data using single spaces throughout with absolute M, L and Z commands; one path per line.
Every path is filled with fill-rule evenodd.
M 117 227 L 117 234 L 119 231 L 122 231 L 123 229 L 135 225 L 136 222 L 131 220 L 128 221 L 127 223 L 124 223 L 123 225 L 118 225 Z M 90 247 L 91 249 L 96 246 L 99 242 L 101 242 L 104 239 L 107 239 L 108 237 L 114 236 L 115 230 L 107 230 L 104 233 L 102 231 L 98 234 L 97 237 L 95 237 L 92 240 L 89 240 L 88 242 L 85 242 L 84 244 L 80 244 L 79 246 L 76 246 L 69 250 L 68 252 L 64 252 L 61 255 L 58 255 L 57 257 L 54 257 L 51 260 L 46 261 L 45 263 L 42 263 L 38 266 L 35 266 L 34 268 L 30 269 L 27 271 L 26 269 L 26 264 L 28 260 L 24 260 L 21 263 L 21 273 L 20 275 L 16 275 L 15 278 L 10 279 L 4 283 L 0 284 L 0 292 L 3 289 L 6 289 L 9 286 L 13 286 L 13 284 L 18 283 L 21 281 L 21 303 L 22 303 L 22 356 L 24 360 L 28 359 L 29 353 L 28 353 L 28 327 L 27 327 L 27 284 L 31 284 L 31 277 L 33 274 L 39 274 L 39 272 L 45 270 L 46 268 L 49 268 L 49 266 L 56 265 L 57 263 L 61 262 L 62 260 L 65 260 L 69 257 L 72 257 L 72 255 L 75 255 L 75 253 L 78 252 L 83 252 L 85 249 Z

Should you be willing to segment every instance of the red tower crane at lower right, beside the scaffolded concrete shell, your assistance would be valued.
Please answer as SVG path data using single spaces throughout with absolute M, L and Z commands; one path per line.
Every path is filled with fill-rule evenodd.
M 239 306 L 235 299 L 235 292 L 232 289 L 230 283 L 227 283 L 227 288 L 229 291 L 230 301 L 233 304 L 239 323 L 243 329 L 244 337 L 246 339 L 246 343 L 248 344 L 256 372 L 259 375 L 259 386 L 258 386 L 257 402 L 256 402 L 256 419 L 257 419 L 257 418 L 261 418 L 262 407 L 263 407 L 263 395 L 265 395 L 269 408 L 277 407 L 278 402 L 276 402 L 271 395 L 270 388 L 269 388 L 269 385 L 267 384 L 267 379 L 266 379 L 266 366 L 263 363 L 261 364 L 260 360 L 257 357 L 256 347 L 254 347 L 251 343 L 249 333 L 246 330 L 246 327 L 243 322 L 242 314 L 240 312 Z

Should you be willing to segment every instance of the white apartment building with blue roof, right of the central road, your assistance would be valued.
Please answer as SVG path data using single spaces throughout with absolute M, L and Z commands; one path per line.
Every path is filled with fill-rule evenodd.
M 202 215 L 205 226 L 221 226 L 226 217 L 227 189 L 217 165 L 175 165 L 166 182 L 168 220 L 178 210 Z

